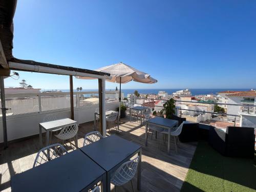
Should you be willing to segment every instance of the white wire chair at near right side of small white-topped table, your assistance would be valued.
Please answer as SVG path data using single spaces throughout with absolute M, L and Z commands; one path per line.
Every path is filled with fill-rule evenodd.
M 59 134 L 55 135 L 55 137 L 62 140 L 62 144 L 64 144 L 65 140 L 74 138 L 74 141 L 76 143 L 76 147 L 78 147 L 77 146 L 77 140 L 75 138 L 75 136 L 77 134 L 77 131 L 78 131 L 78 126 L 77 126 L 76 123 L 73 123 L 73 124 L 70 124 L 70 125 L 66 125 L 65 127 L 62 127 Z

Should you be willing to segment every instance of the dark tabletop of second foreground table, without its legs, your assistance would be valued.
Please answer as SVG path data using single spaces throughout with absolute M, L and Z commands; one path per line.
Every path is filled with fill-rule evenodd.
M 111 135 L 80 148 L 97 164 L 109 172 L 116 165 L 140 149 L 140 145 Z

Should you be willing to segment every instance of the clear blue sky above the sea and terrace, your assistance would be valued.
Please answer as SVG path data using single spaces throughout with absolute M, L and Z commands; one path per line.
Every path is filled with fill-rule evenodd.
M 234 0 L 21 0 L 13 55 L 91 70 L 122 61 L 159 81 L 126 89 L 255 88 L 255 10 L 256 1 Z M 69 88 L 68 76 L 19 74 L 5 86 L 26 79 L 34 88 Z M 74 88 L 97 86 L 74 80 Z

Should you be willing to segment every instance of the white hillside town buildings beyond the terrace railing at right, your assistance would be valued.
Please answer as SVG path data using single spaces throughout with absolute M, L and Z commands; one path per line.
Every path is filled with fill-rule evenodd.
M 150 107 L 160 113 L 167 99 L 176 101 L 176 108 L 181 117 L 189 121 L 203 122 L 226 128 L 236 125 L 256 125 L 256 91 L 222 91 L 216 94 L 191 95 L 188 89 L 168 94 L 159 91 L 158 94 L 128 94 L 130 103 Z M 153 113 L 152 112 L 152 113 Z M 252 120 L 253 119 L 253 120 Z

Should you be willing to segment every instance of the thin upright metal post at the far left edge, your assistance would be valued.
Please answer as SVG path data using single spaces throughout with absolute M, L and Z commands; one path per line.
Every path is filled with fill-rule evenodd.
M 4 77 L 0 76 L 0 90 L 1 90 L 1 104 L 2 104 L 2 118 L 3 118 L 3 134 L 4 134 L 4 148 L 8 147 L 7 140 L 7 125 L 6 125 L 6 106 L 5 106 L 5 83 Z

